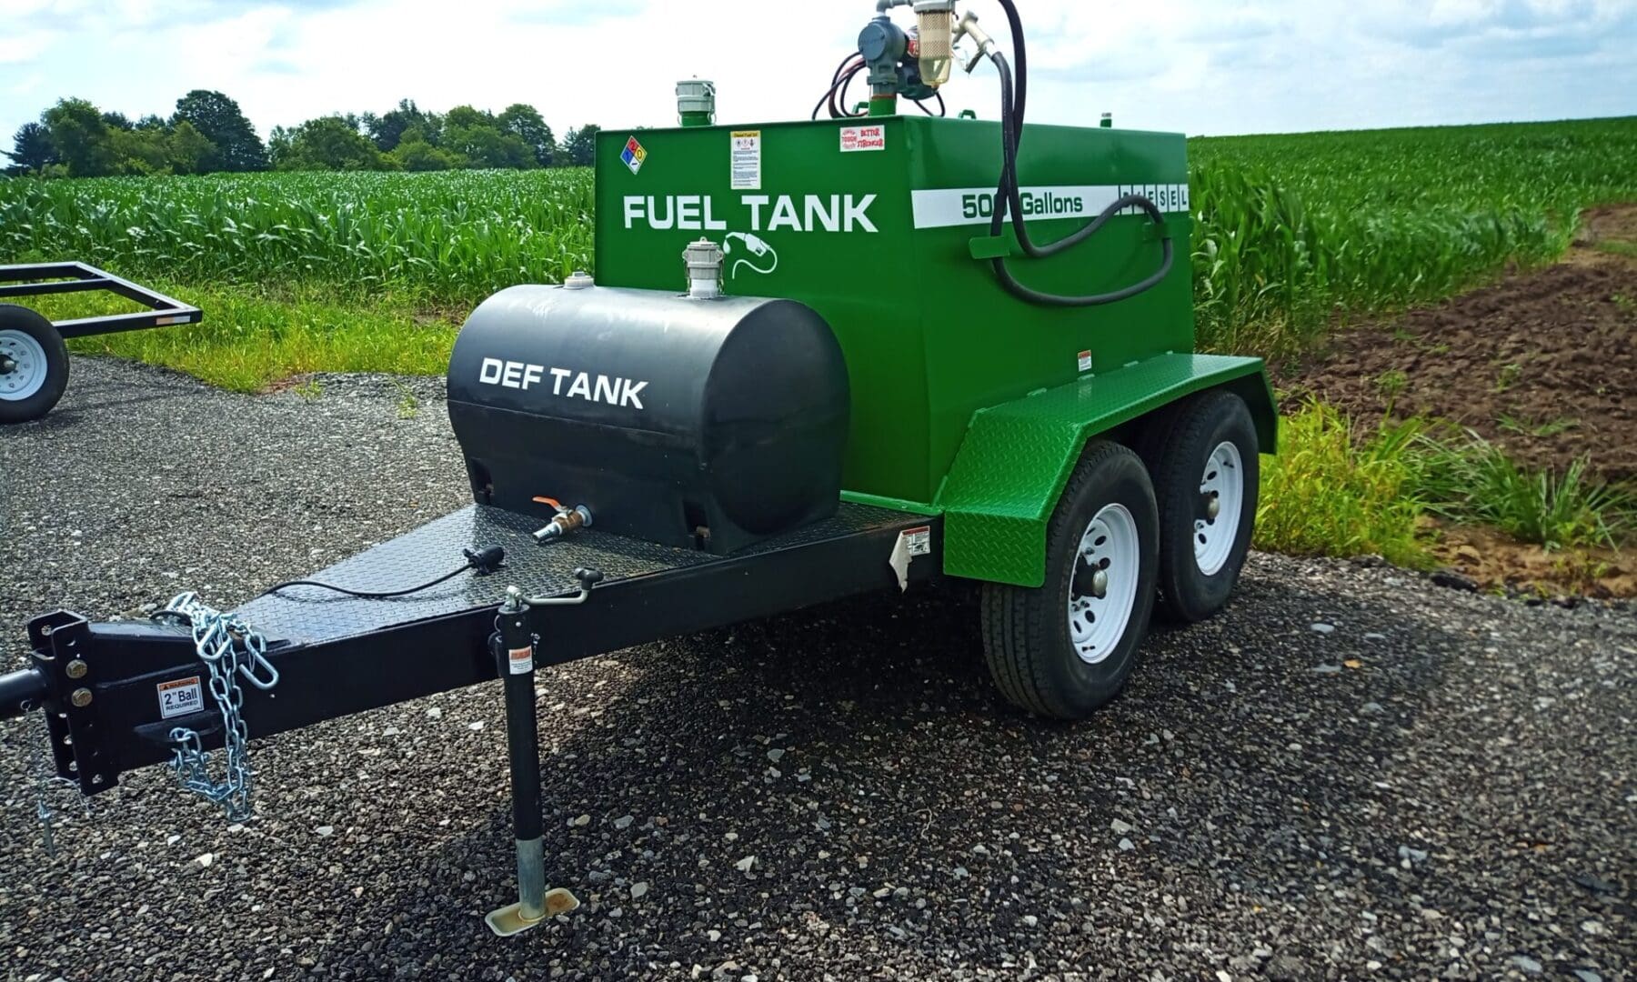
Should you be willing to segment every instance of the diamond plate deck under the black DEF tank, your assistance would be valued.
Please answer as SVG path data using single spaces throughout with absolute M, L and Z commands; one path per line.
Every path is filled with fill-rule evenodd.
M 257 597 L 237 614 L 270 642 L 326 643 L 421 620 L 467 614 L 499 606 L 507 586 L 532 596 L 561 596 L 579 589 L 575 568 L 601 570 L 612 584 L 642 576 L 663 576 L 712 563 L 738 561 L 758 553 L 843 538 L 861 532 L 925 524 L 925 517 L 843 502 L 835 517 L 771 538 L 730 556 L 670 548 L 588 529 L 552 545 L 535 545 L 530 534 L 545 524 L 481 504 L 467 506 L 350 560 L 313 573 L 306 579 L 334 583 L 365 592 L 390 592 L 453 570 L 462 550 L 499 545 L 506 566 L 491 576 L 463 573 L 429 591 L 390 601 L 363 601 L 316 588 L 290 588 Z

